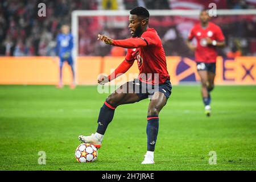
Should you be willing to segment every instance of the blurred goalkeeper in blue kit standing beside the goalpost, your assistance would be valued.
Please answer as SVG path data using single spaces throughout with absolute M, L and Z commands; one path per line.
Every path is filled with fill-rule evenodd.
M 73 67 L 73 57 L 72 57 L 72 48 L 73 48 L 73 36 L 69 33 L 69 26 L 67 24 L 63 24 L 61 26 L 61 34 L 57 35 L 56 39 L 56 55 L 60 58 L 60 79 L 59 85 L 57 88 L 63 88 L 63 80 L 62 80 L 62 68 L 64 61 L 68 61 L 69 66 L 72 71 L 72 83 L 70 87 L 75 88 L 75 70 Z

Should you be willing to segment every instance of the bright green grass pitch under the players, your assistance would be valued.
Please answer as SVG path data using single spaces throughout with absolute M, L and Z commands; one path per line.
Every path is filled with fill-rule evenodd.
M 200 86 L 174 86 L 159 114 L 155 164 L 142 165 L 148 100 L 119 106 L 94 163 L 78 163 L 78 135 L 96 131 L 108 94 L 97 86 L 0 86 L 0 170 L 255 170 L 256 86 L 216 86 L 212 116 Z M 39 151 L 46 165 L 39 165 Z M 217 164 L 209 164 L 216 151 Z

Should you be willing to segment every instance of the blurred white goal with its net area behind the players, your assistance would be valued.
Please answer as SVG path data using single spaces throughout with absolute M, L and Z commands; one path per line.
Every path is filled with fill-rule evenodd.
M 200 10 L 149 10 L 149 12 L 149 26 L 158 32 L 166 56 L 193 59 L 194 53 L 188 49 L 185 42 L 191 28 L 199 23 Z M 105 34 L 113 39 L 129 38 L 129 15 L 128 10 L 73 11 L 72 34 L 75 38 L 73 49 L 75 60 L 81 56 L 124 56 L 125 49 L 97 41 L 97 35 Z M 213 14 L 210 21 L 221 27 L 227 44 L 224 49 L 219 50 L 219 55 L 226 57 L 230 52 L 240 50 L 241 55 L 255 56 L 256 11 L 217 10 L 216 15 Z M 121 61 L 119 60 L 119 63 Z M 194 80 L 197 79 L 194 78 Z

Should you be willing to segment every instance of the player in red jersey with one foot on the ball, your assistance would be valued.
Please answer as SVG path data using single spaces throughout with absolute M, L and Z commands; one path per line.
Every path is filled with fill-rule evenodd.
M 98 116 L 96 133 L 91 136 L 79 136 L 79 140 L 82 142 L 92 143 L 99 148 L 117 106 L 150 98 L 146 128 L 147 152 L 142 164 L 154 163 L 154 150 L 159 127 L 158 114 L 166 105 L 172 89 L 162 42 L 154 28 L 148 28 L 149 16 L 144 7 L 135 7 L 130 11 L 129 30 L 132 37 L 129 39 L 114 40 L 106 35 L 98 35 L 98 40 L 106 44 L 127 48 L 125 60 L 108 77 L 100 76 L 99 84 L 105 84 L 122 75 L 133 65 L 135 60 L 137 60 L 140 73 L 138 79 L 126 82 L 106 98 Z

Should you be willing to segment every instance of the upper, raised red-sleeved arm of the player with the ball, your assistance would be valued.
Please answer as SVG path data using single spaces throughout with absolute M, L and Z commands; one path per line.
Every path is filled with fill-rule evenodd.
M 148 42 L 146 39 L 143 38 L 129 38 L 124 40 L 114 40 L 109 38 L 106 35 L 98 34 L 98 40 L 105 42 L 106 44 L 110 44 L 112 46 L 119 46 L 123 48 L 137 48 L 137 47 L 144 47 L 148 46 Z

